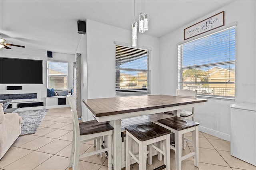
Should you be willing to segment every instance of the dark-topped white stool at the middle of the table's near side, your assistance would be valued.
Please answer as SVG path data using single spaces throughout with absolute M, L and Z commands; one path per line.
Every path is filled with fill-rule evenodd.
M 146 169 L 147 146 L 149 145 L 149 156 L 152 157 L 152 150 L 155 148 L 164 155 L 166 169 L 170 169 L 170 133 L 171 131 L 159 125 L 146 122 L 125 127 L 126 130 L 126 169 L 130 169 L 131 156 L 138 162 L 140 170 Z M 132 140 L 133 139 L 133 140 Z M 132 153 L 132 141 L 139 144 L 139 157 Z M 155 142 L 163 141 L 163 150 L 154 145 Z M 152 159 L 148 159 L 152 164 Z M 164 166 L 161 166 L 164 167 Z

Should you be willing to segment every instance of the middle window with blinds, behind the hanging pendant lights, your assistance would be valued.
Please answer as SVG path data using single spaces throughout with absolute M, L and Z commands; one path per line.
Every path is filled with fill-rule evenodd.
M 150 93 L 150 50 L 116 45 L 116 95 Z

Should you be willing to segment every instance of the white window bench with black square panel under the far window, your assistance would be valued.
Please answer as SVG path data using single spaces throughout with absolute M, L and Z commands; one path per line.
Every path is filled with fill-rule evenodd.
M 45 103 L 45 109 L 69 107 L 68 101 L 66 100 L 66 96 L 45 97 Z

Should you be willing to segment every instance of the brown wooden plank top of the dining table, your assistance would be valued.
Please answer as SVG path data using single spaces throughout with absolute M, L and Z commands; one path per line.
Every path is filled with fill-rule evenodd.
M 86 99 L 83 100 L 83 103 L 90 109 L 95 117 L 102 117 L 206 101 L 207 99 L 194 99 L 170 95 L 143 95 Z

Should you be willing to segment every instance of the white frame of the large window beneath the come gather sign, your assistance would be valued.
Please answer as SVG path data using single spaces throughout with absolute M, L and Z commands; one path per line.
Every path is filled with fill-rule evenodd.
M 200 64 L 200 65 L 190 65 L 190 66 L 183 66 L 182 63 L 183 63 L 183 45 L 184 44 L 188 44 L 188 43 L 191 43 L 191 42 L 195 42 L 197 40 L 201 40 L 203 38 L 207 38 L 207 37 L 210 37 L 210 36 L 213 36 L 213 35 L 218 35 L 218 34 L 221 34 L 222 32 L 225 32 L 227 30 L 232 30 L 234 28 L 234 59 L 229 59 L 228 61 L 221 61 L 221 62 L 210 62 L 210 63 L 207 63 L 205 62 L 204 64 Z M 230 100 L 230 101 L 234 101 L 235 100 L 235 90 L 236 90 L 236 87 L 235 87 L 235 52 L 236 52 L 236 25 L 233 25 L 233 26 L 228 26 L 222 30 L 219 30 L 217 32 L 214 32 L 212 34 L 208 34 L 206 36 L 202 36 L 200 38 L 196 38 L 194 40 L 191 40 L 191 41 L 188 41 L 188 42 L 185 42 L 185 43 L 182 43 L 182 44 L 179 44 L 178 45 L 178 89 L 184 89 L 184 84 L 188 84 L 188 85 L 198 85 L 198 84 L 226 84 L 226 85 L 230 85 L 230 84 L 234 84 L 234 90 L 231 89 L 232 93 L 234 93 L 234 96 L 228 96 L 227 93 L 225 95 L 211 95 L 210 93 L 208 94 L 197 94 L 198 97 L 202 97 L 202 98 L 209 98 L 209 99 L 224 99 L 224 100 Z M 229 48 L 232 46 L 230 45 L 231 43 L 229 42 Z M 208 45 L 208 47 L 212 47 L 212 45 Z M 232 46 L 233 47 L 233 46 Z M 208 58 L 210 58 L 210 55 L 208 56 Z M 188 69 L 200 69 L 200 68 L 204 68 L 204 67 L 217 67 L 218 65 L 233 65 L 234 67 L 234 81 L 228 81 L 228 82 L 222 82 L 222 81 L 216 81 L 216 82 L 209 82 L 208 80 L 205 82 L 203 81 L 183 81 L 183 71 L 184 70 L 188 70 Z M 230 72 L 230 69 L 228 70 Z M 221 74 L 220 74 L 221 75 Z M 214 87 L 213 87 L 214 88 Z M 187 89 L 187 88 L 186 88 Z M 210 88 L 212 89 L 212 88 Z M 194 89 L 192 89 L 194 90 Z M 209 89 L 207 89 L 209 90 Z

